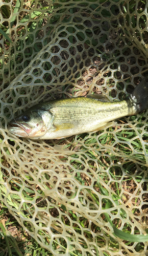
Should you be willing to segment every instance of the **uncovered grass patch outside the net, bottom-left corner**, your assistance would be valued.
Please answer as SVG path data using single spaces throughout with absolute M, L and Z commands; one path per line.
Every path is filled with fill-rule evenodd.
M 39 256 L 52 256 L 48 250 L 42 248 L 35 239 L 30 237 L 26 231 L 18 224 L 18 222 L 12 217 L 6 206 L 1 210 L 1 218 L 3 222 L 0 222 L 1 227 L 1 252 L 0 255 L 9 256 L 24 256 L 24 255 L 39 255 Z M 5 223 L 5 224 L 4 224 Z M 10 229 L 9 229 L 10 228 Z M 10 231 L 8 231 L 8 229 Z M 11 233 L 11 230 L 14 230 Z

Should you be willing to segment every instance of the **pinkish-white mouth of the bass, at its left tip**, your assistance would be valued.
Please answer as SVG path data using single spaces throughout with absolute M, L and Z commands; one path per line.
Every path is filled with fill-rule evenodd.
M 15 131 L 13 131 L 15 128 Z M 15 123 L 11 122 L 8 124 L 8 130 L 12 133 L 15 133 L 15 135 L 26 135 L 25 137 L 29 136 L 29 133 L 32 131 L 31 127 L 28 124 L 22 124 L 22 123 Z M 19 132 L 19 134 L 17 134 Z M 19 135 L 20 136 L 20 135 Z

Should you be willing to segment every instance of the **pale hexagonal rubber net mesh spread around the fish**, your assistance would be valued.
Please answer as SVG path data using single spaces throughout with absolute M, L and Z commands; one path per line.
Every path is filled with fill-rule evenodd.
M 41 100 L 129 95 L 147 72 L 148 3 L 0 4 L 12 38 L 0 41 L 1 200 L 53 255 L 146 255 L 112 227 L 146 234 L 146 111 L 59 140 L 17 138 L 7 122 Z

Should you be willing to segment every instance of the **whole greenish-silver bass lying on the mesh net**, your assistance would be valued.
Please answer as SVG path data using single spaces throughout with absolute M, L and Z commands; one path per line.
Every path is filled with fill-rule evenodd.
M 38 103 L 15 117 L 8 131 L 18 137 L 59 139 L 98 131 L 115 119 L 136 115 L 148 108 L 148 78 L 125 100 L 106 97 L 73 97 Z

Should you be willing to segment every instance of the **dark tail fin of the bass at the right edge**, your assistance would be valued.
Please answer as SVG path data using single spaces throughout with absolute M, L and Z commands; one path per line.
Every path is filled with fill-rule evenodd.
M 148 78 L 145 77 L 138 84 L 129 98 L 137 105 L 138 112 L 148 109 Z

